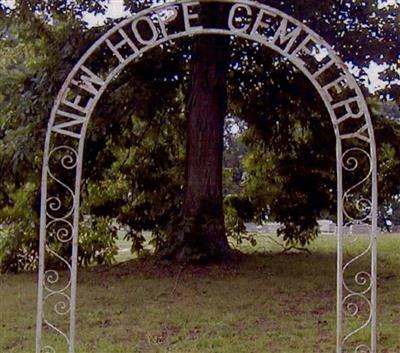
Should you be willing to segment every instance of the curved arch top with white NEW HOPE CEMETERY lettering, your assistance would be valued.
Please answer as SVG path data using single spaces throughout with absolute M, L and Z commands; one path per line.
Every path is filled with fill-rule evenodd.
M 230 7 L 225 28 L 206 27 L 200 23 L 198 10 L 202 2 Z M 96 41 L 68 75 L 53 107 L 49 128 L 53 133 L 79 139 L 85 134 L 102 93 L 126 65 L 163 43 L 198 34 L 241 37 L 281 54 L 316 88 L 341 139 L 356 137 L 373 142 L 364 96 L 334 49 L 300 21 L 249 0 L 179 0 L 146 9 L 122 21 Z M 107 53 L 113 61 L 102 68 L 103 72 L 91 69 L 91 59 L 97 51 Z M 359 124 L 346 124 L 354 119 Z

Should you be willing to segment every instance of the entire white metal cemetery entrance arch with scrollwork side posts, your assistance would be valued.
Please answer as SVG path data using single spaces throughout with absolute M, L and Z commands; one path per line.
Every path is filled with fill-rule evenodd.
M 199 10 L 206 3 L 226 6 L 225 26 L 201 23 Z M 145 52 L 199 34 L 236 36 L 271 48 L 295 65 L 324 101 L 337 141 L 336 353 L 376 353 L 377 176 L 367 104 L 328 43 L 285 13 L 248 0 L 179 0 L 146 9 L 108 31 L 69 74 L 51 113 L 44 150 L 36 353 L 75 353 L 80 184 L 86 130 L 97 102 L 113 78 Z M 368 244 L 345 259 L 346 241 L 353 239 L 347 230 L 359 224 L 369 226 Z

